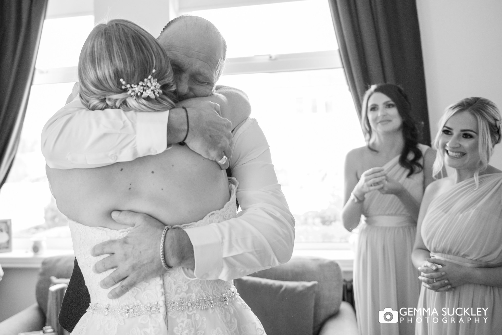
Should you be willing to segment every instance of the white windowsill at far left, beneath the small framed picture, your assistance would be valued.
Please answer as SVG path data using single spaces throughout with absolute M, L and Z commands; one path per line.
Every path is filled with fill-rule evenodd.
M 10 253 L 0 253 L 0 264 L 9 268 L 40 268 L 44 259 L 53 256 L 73 256 L 73 250 L 46 250 L 43 254 L 34 255 L 32 251 L 14 250 Z

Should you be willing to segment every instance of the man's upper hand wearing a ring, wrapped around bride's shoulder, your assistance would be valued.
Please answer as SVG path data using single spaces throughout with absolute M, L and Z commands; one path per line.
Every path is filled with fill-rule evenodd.
M 178 102 L 176 106 L 184 106 L 188 110 L 188 136 L 185 143 L 190 149 L 215 162 L 220 161 L 223 155 L 229 157 L 228 153 L 230 153 L 232 145 L 232 123 L 219 115 L 220 109 L 217 103 L 193 98 Z M 185 125 L 184 128 L 176 132 L 182 135 L 181 139 L 179 135 L 177 137 L 180 142 L 185 137 L 187 130 L 186 115 L 185 111 L 183 109 L 180 111 L 179 108 L 171 109 L 170 113 L 173 112 L 177 114 L 176 123 Z M 171 119 L 171 116 L 169 118 Z M 170 134 L 175 134 L 169 124 L 168 137 Z M 173 141 L 173 143 L 177 142 Z M 225 170 L 228 165 L 227 160 L 224 164 L 220 164 L 220 167 Z

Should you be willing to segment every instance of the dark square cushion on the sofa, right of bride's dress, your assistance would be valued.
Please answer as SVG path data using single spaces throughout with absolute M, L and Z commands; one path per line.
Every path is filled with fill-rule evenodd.
M 234 280 L 268 335 L 311 335 L 317 282 L 294 282 L 245 276 Z

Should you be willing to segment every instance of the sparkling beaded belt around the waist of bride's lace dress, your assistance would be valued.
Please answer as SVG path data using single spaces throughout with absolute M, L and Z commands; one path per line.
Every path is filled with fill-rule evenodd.
M 195 298 L 180 298 L 175 300 L 170 300 L 167 302 L 168 311 L 181 311 L 188 310 L 192 311 L 194 309 L 207 309 L 214 307 L 224 307 L 239 294 L 235 287 L 232 287 L 226 292 L 221 293 L 221 295 L 208 296 L 201 294 Z M 135 317 L 141 315 L 151 315 L 158 314 L 161 312 L 161 307 L 163 303 L 159 302 L 148 302 L 148 303 L 136 303 L 136 304 L 123 304 L 120 306 L 110 306 L 109 304 L 103 303 L 91 303 L 88 311 L 92 313 L 99 313 L 110 316 L 120 316 L 120 317 Z

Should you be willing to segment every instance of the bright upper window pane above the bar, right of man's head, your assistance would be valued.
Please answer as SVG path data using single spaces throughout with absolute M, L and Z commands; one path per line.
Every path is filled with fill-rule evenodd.
M 336 50 L 326 0 L 231 7 L 191 13 L 212 22 L 227 43 L 227 57 Z

